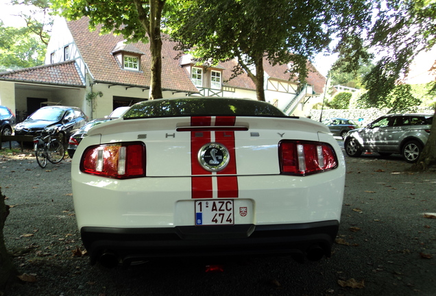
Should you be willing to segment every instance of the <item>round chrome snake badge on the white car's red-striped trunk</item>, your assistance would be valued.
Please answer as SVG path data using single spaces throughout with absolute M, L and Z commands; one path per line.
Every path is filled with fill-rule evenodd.
M 198 151 L 199 164 L 207 171 L 221 171 L 229 160 L 228 149 L 219 143 L 208 143 Z

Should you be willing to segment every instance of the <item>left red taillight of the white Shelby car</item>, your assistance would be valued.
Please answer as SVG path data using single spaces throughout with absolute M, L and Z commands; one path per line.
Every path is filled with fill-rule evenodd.
M 80 171 L 117 179 L 143 177 L 145 146 L 135 142 L 88 147 L 82 155 Z

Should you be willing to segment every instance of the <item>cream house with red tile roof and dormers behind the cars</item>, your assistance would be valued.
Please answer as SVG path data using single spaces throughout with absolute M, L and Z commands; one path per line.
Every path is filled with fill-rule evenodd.
M 248 97 L 256 99 L 247 75 L 233 79 L 236 60 L 217 66 L 198 65 L 191 56 L 180 56 L 175 42 L 164 37 L 162 45 L 163 97 L 185 95 Z M 16 110 L 19 119 L 41 106 L 82 108 L 90 119 L 105 116 L 119 106 L 147 100 L 150 84 L 149 45 L 125 42 L 123 36 L 100 35 L 88 29 L 88 18 L 54 25 L 45 65 L 0 73 L 0 104 Z M 307 85 L 289 80 L 287 65 L 272 66 L 265 60 L 265 97 L 287 114 L 308 114 L 308 99 L 323 93 L 326 78 L 313 71 Z

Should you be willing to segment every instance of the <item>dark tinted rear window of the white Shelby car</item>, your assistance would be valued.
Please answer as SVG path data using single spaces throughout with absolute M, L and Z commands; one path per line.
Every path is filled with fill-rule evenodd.
M 251 99 L 195 97 L 155 99 L 136 103 L 123 119 L 178 116 L 265 116 L 287 117 L 270 103 Z

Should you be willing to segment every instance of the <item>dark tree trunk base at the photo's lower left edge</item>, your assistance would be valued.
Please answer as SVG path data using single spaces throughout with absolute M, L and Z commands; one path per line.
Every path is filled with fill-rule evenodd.
M 1 194 L 0 190 L 0 291 L 5 288 L 8 282 L 16 279 L 16 275 L 18 275 L 14 264 L 12 264 L 12 258 L 6 249 L 3 236 L 3 227 L 5 227 L 8 214 L 9 206 L 6 206 L 5 197 Z

